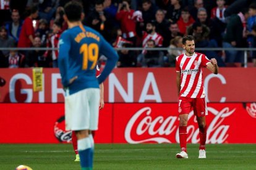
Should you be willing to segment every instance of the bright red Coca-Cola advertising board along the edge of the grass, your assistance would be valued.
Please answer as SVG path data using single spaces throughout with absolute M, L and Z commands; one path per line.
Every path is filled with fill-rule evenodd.
M 0 104 L 0 143 L 70 142 L 63 103 Z M 256 143 L 256 103 L 208 103 L 207 144 Z M 177 103 L 106 103 L 96 143 L 178 143 Z M 189 143 L 198 143 L 192 111 Z

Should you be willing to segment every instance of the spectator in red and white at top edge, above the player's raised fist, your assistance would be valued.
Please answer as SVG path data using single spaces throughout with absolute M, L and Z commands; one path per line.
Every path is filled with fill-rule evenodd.
M 211 9 L 211 18 L 218 18 L 221 22 L 226 23 L 226 19 L 224 17 L 224 11 L 226 10 L 226 7 L 224 6 L 225 0 L 217 0 L 216 3 L 217 6 Z

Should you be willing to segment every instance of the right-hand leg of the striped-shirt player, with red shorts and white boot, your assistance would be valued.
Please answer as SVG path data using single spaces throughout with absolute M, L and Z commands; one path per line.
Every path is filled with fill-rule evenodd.
M 205 98 L 194 99 L 194 114 L 197 116 L 197 123 L 199 129 L 200 146 L 198 158 L 206 158 L 205 143 L 207 140 L 207 122 L 206 115 L 208 115 L 207 104 Z

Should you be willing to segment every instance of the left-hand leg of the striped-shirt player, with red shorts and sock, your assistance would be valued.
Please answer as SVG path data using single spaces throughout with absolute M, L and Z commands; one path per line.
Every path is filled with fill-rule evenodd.
M 176 158 L 188 158 L 187 155 L 187 120 L 191 109 L 190 99 L 179 97 L 179 145 L 181 152 L 176 154 Z

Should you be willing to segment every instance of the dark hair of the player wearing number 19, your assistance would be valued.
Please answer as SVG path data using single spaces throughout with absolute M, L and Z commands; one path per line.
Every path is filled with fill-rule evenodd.
M 70 1 L 64 6 L 64 12 L 70 22 L 80 21 L 83 12 L 82 4 L 76 1 Z

